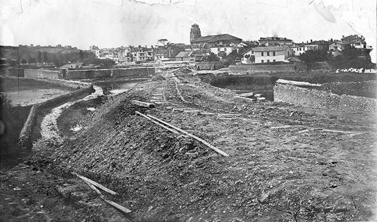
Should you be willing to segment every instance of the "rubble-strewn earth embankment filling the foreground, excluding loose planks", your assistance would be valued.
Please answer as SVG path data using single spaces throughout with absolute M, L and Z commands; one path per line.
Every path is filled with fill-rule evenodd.
M 374 114 L 251 103 L 190 71 L 164 71 L 58 119 L 62 142 L 42 140 L 4 171 L 4 221 L 374 221 Z M 131 100 L 151 101 L 141 108 Z M 75 111 L 76 110 L 76 111 Z M 135 115 L 151 114 L 228 153 Z M 77 118 L 76 114 L 81 118 Z M 106 205 L 80 173 L 132 210 Z M 42 207 L 41 207 L 42 205 Z M 75 212 L 75 213 L 69 213 Z M 67 216 L 65 216 L 67 215 Z

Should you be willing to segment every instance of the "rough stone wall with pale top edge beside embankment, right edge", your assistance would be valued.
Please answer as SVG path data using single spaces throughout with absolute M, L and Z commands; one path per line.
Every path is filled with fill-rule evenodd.
M 274 86 L 274 101 L 316 108 L 342 111 L 376 112 L 377 99 L 361 96 L 333 94 L 319 89 L 277 83 Z

